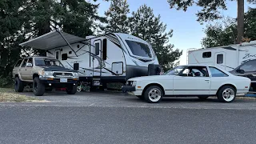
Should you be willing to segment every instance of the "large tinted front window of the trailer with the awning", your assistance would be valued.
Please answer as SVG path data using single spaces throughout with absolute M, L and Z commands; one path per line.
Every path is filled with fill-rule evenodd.
M 144 57 L 144 58 L 152 58 L 150 47 L 147 44 L 142 42 L 129 41 L 129 40 L 126 40 L 126 43 L 130 47 L 130 50 L 134 55 Z

